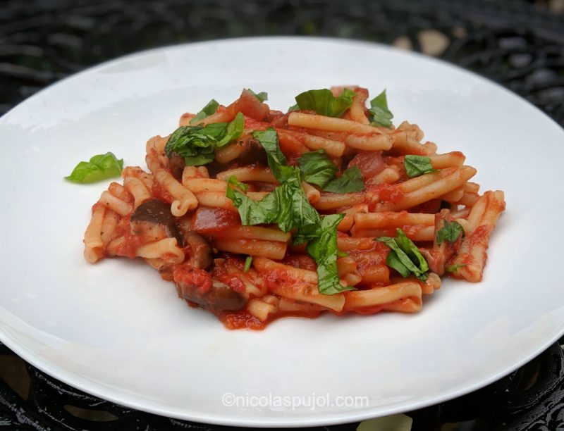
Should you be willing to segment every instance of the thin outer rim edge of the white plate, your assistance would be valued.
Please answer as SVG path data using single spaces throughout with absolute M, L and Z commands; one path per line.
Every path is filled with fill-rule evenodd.
M 158 54 L 159 51 L 176 51 L 182 50 L 186 48 L 190 48 L 192 46 L 198 45 L 209 45 L 209 44 L 225 44 L 225 43 L 248 43 L 248 42 L 255 42 L 260 40 L 276 40 L 276 41 L 300 41 L 300 40 L 307 40 L 308 42 L 323 42 L 323 43 L 333 43 L 333 44 L 348 44 L 352 46 L 363 45 L 367 48 L 379 48 L 384 49 L 386 51 L 391 51 L 396 54 L 401 54 L 406 57 L 416 58 L 419 61 L 426 61 L 428 63 L 439 63 L 447 68 L 458 70 L 459 72 L 463 72 L 466 75 L 473 77 L 474 79 L 479 80 L 486 85 L 494 85 L 497 89 L 501 89 L 506 95 L 510 95 L 513 98 L 515 103 L 520 104 L 527 104 L 529 108 L 534 108 L 537 113 L 540 113 L 544 119 L 548 119 L 553 125 L 556 125 L 560 132 L 564 132 L 564 128 L 556 123 L 556 120 L 551 118 L 548 114 L 542 111 L 540 108 L 532 104 L 527 99 L 523 98 L 522 96 L 516 94 L 515 92 L 510 91 L 506 87 L 503 87 L 498 82 L 489 79 L 488 77 L 484 77 L 483 75 L 479 75 L 472 70 L 467 70 L 462 68 L 459 65 L 455 65 L 450 63 L 446 60 L 441 58 L 434 58 L 431 56 L 427 56 L 418 52 L 414 51 L 406 51 L 403 49 L 398 49 L 393 46 L 389 46 L 386 44 L 381 44 L 377 42 L 370 42 L 366 40 L 360 39 L 343 39 L 338 37 L 303 37 L 303 36 L 260 36 L 260 37 L 236 37 L 236 38 L 226 38 L 226 39 L 212 39 L 207 41 L 198 41 L 198 42 L 188 42 L 188 43 L 181 43 L 181 44 L 171 44 L 167 46 L 159 46 L 157 48 L 152 49 L 144 49 L 142 51 L 136 51 L 130 54 L 126 54 L 124 56 L 119 56 L 117 58 L 112 58 L 108 61 L 104 61 L 102 63 L 98 63 L 96 65 L 92 65 L 84 70 L 80 70 L 78 73 L 73 73 L 68 77 L 64 77 L 61 80 L 58 80 L 47 87 L 39 90 L 32 96 L 28 97 L 27 99 L 21 101 L 16 106 L 13 106 L 8 112 L 4 113 L 0 117 L 0 127 L 4 125 L 6 120 L 9 120 L 9 117 L 13 115 L 14 112 L 18 112 L 21 109 L 25 109 L 27 104 L 32 103 L 36 98 L 41 97 L 44 92 L 49 92 L 51 89 L 55 89 L 59 87 L 59 85 L 66 85 L 68 82 L 71 82 L 74 79 L 78 79 L 82 77 L 82 75 L 86 75 L 88 73 L 96 72 L 97 70 L 101 70 L 103 68 L 107 68 L 115 63 L 121 63 L 123 61 L 130 61 L 135 58 L 141 58 L 143 56 Z M 14 316 L 10 311 L 8 311 L 4 306 L 0 306 L 1 313 L 7 313 L 11 318 L 15 320 L 19 320 L 23 325 L 26 325 L 24 320 L 20 320 L 18 317 Z M 237 418 L 236 416 L 226 416 L 223 413 L 216 414 L 214 416 L 210 414 L 198 414 L 197 412 L 192 413 L 183 413 L 182 411 L 177 411 L 178 409 L 167 409 L 167 408 L 158 408 L 155 407 L 155 403 L 151 401 L 144 400 L 139 398 L 137 395 L 132 396 L 131 394 L 125 394 L 124 392 L 119 392 L 121 394 L 121 398 L 119 395 L 114 396 L 111 393 L 111 389 L 105 385 L 95 385 L 95 382 L 92 382 L 87 377 L 82 377 L 78 373 L 69 373 L 61 366 L 54 366 L 50 361 L 47 361 L 40 356 L 37 356 L 34 352 L 32 352 L 23 342 L 20 342 L 17 337 L 13 337 L 9 331 L 6 331 L 3 325 L 0 325 L 0 340 L 3 344 L 5 344 L 8 349 L 11 349 L 14 353 L 16 353 L 20 358 L 30 363 L 32 366 L 41 370 L 47 375 L 54 377 L 56 380 L 60 380 L 61 382 L 74 387 L 75 389 L 79 389 L 82 392 L 86 392 L 87 394 L 92 394 L 97 396 L 103 400 L 111 401 L 115 404 L 120 404 L 122 406 L 127 406 L 130 408 L 135 408 L 140 411 L 145 411 L 148 413 L 153 413 L 158 416 L 168 416 L 170 418 L 179 418 L 182 420 L 191 420 L 195 422 L 205 423 L 205 424 L 213 424 L 213 425 L 228 425 L 228 426 L 247 426 L 247 427 L 304 427 L 304 426 L 323 426 L 323 425 L 338 425 L 343 423 L 351 423 L 357 422 L 359 420 L 367 420 L 370 418 L 378 418 L 381 416 L 388 416 L 394 413 L 405 413 L 408 411 L 413 411 L 419 408 L 425 408 L 427 406 L 431 406 L 434 404 L 439 404 L 443 401 L 447 401 L 449 399 L 454 399 L 458 396 L 462 396 L 473 392 L 477 389 L 481 389 L 496 380 L 501 379 L 505 375 L 509 375 L 513 373 L 514 370 L 523 366 L 525 363 L 531 361 L 533 358 L 536 358 L 541 354 L 543 351 L 548 349 L 553 343 L 555 343 L 562 335 L 564 335 L 564 325 L 560 325 L 560 327 L 556 328 L 553 332 L 551 337 L 546 337 L 545 342 L 541 343 L 537 349 L 534 349 L 531 353 L 527 356 L 522 357 L 519 361 L 516 361 L 512 366 L 506 367 L 503 371 L 494 373 L 493 375 L 489 376 L 488 378 L 481 380 L 480 382 L 474 383 L 473 385 L 469 385 L 464 387 L 463 389 L 457 389 L 449 392 L 443 392 L 441 396 L 427 396 L 423 399 L 419 398 L 422 401 L 410 401 L 407 403 L 403 403 L 402 406 L 396 407 L 387 407 L 387 408 L 364 408 L 363 410 L 358 410 L 356 413 L 355 411 L 337 411 L 335 416 L 326 417 L 330 413 L 317 413 L 312 417 L 307 418 L 298 418 L 293 419 L 290 416 L 287 416 L 281 419 L 280 416 L 276 416 L 275 419 L 256 419 L 256 418 Z M 144 402 L 145 401 L 145 402 Z M 160 405 L 160 404 L 158 404 Z M 371 413 L 370 410 L 374 411 L 377 410 L 377 413 Z M 325 417 L 325 418 L 324 418 Z

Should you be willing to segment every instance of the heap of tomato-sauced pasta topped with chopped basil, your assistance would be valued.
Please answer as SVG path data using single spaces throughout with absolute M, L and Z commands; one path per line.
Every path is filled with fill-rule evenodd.
M 386 93 L 309 90 L 287 113 L 264 93 L 212 100 L 146 145 L 92 206 L 90 263 L 142 258 L 230 329 L 284 316 L 422 309 L 441 277 L 479 282 L 503 192 L 460 151 L 395 127 Z

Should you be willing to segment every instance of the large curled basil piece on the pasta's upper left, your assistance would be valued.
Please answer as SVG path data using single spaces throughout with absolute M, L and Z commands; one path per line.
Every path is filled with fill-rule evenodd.
M 184 158 L 186 165 L 206 165 L 215 160 L 215 149 L 226 146 L 240 137 L 245 127 L 245 117 L 237 113 L 231 123 L 214 123 L 202 126 L 181 126 L 168 138 L 164 151 L 171 157 L 175 152 Z

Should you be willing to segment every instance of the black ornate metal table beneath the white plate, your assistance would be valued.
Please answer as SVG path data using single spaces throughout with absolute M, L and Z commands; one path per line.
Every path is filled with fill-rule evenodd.
M 160 0 L 135 5 L 4 0 L 0 114 L 52 82 L 109 58 L 154 46 L 253 35 L 346 37 L 421 51 L 499 82 L 564 125 L 564 3 L 556 0 Z M 560 343 L 493 385 L 407 413 L 414 420 L 412 430 L 564 429 Z M 0 368 L 0 429 L 223 428 L 97 399 L 23 363 L 1 344 L 0 360 L 20 370 L 14 380 Z M 450 423 L 458 428 L 445 425 Z

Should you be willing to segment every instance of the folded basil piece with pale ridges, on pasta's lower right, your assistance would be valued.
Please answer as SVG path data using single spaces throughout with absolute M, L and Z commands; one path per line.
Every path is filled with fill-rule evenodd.
M 386 258 L 386 264 L 402 275 L 407 277 L 410 273 L 419 278 L 419 280 L 427 280 L 427 271 L 429 266 L 427 261 L 413 244 L 412 240 L 405 236 L 405 232 L 399 227 L 396 229 L 396 237 L 379 237 L 375 239 L 384 242 L 391 251 Z

